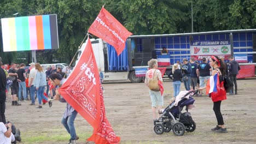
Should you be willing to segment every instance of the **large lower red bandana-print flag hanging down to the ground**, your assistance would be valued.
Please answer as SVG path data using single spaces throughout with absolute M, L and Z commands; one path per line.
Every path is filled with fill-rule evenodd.
M 106 118 L 100 76 L 90 39 L 72 74 L 58 91 L 94 128 L 88 141 L 119 143 L 120 137 L 115 135 Z

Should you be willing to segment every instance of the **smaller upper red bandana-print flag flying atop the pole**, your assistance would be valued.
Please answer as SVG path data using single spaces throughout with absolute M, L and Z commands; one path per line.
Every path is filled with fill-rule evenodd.
M 113 45 L 118 56 L 125 48 L 126 39 L 132 35 L 132 33 L 127 31 L 127 29 L 104 8 L 101 9 L 88 32 L 105 40 L 108 44 Z

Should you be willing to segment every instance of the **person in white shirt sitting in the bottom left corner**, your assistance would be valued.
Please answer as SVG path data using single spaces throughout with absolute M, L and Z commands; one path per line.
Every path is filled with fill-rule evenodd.
M 15 137 L 13 133 L 11 133 L 11 123 L 4 124 L 0 122 L 0 144 L 10 144 L 14 141 Z

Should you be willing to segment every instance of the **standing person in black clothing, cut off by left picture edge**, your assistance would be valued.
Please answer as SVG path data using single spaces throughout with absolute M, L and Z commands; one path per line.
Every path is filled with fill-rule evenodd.
M 6 123 L 5 120 L 5 100 L 6 100 L 6 75 L 2 69 L 2 59 L 0 57 L 0 122 Z

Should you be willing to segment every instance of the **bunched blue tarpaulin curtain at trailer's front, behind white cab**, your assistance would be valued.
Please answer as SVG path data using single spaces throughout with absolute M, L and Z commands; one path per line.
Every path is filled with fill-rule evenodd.
M 125 43 L 124 51 L 117 56 L 114 46 L 108 46 L 108 70 L 110 71 L 127 71 L 129 70 L 128 57 L 127 57 L 127 43 Z

